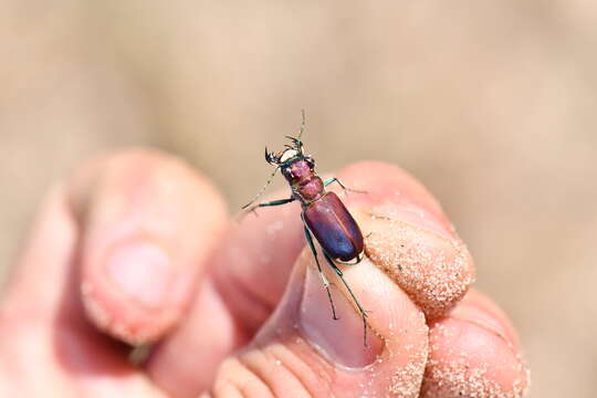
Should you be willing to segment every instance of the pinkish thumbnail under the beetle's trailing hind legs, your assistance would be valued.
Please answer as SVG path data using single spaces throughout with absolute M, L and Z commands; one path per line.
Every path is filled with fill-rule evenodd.
M 303 334 L 324 356 L 341 366 L 362 368 L 374 363 L 383 350 L 383 341 L 367 327 L 365 346 L 363 318 L 356 306 L 335 285 L 329 289 L 338 320 L 332 316 L 329 298 L 320 274 L 307 265 L 300 310 Z M 358 297 L 358 292 L 355 294 Z

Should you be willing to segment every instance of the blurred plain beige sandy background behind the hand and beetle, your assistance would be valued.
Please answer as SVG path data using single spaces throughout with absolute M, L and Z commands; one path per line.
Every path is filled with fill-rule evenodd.
M 596 3 L 4 0 L 0 49 L 0 282 L 82 159 L 164 148 L 235 209 L 304 107 L 320 170 L 392 161 L 440 198 L 531 397 L 595 397 Z

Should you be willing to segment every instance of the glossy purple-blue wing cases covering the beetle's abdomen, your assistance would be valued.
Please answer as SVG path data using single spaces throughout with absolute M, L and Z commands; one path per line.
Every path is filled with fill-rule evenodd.
M 334 192 L 325 193 L 304 210 L 305 222 L 333 259 L 350 261 L 363 251 L 363 234 Z

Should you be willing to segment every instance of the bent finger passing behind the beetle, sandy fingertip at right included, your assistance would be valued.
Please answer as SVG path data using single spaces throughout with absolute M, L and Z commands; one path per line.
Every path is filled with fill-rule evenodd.
M 447 273 L 454 269 L 461 274 L 458 289 L 452 289 L 450 294 L 421 300 L 423 310 L 439 313 L 452 306 L 464 294 L 474 271 L 463 247 L 458 245 L 458 250 L 451 251 L 454 245 L 450 242 L 458 240 L 437 201 L 410 176 L 389 165 L 356 164 L 338 176 L 349 188 L 368 192 L 350 192 L 344 197 L 355 209 L 364 210 L 360 216 L 354 214 L 363 222 L 362 228 L 377 233 L 381 242 L 385 241 L 383 234 L 386 234 L 387 241 L 394 242 L 374 245 L 376 251 L 373 253 L 377 256 L 371 259 L 391 270 L 395 264 L 389 260 L 392 259 L 395 247 L 401 244 L 396 241 L 399 238 L 405 240 L 405 230 L 411 231 L 410 237 L 416 241 L 406 242 L 409 248 L 412 247 L 407 252 L 410 266 L 415 268 L 418 262 L 425 270 L 425 274 L 412 273 L 412 280 L 422 283 L 418 289 L 426 287 L 425 277 L 448 280 Z M 287 193 L 273 196 L 275 199 L 284 197 Z M 381 217 L 374 219 L 374 213 Z M 383 217 L 388 213 L 404 221 Z M 296 203 L 260 209 L 259 214 L 249 214 L 242 223 L 227 232 L 221 247 L 209 260 L 211 277 L 202 282 L 189 317 L 150 360 L 149 371 L 154 379 L 177 396 L 190 396 L 209 386 L 217 364 L 249 341 L 255 327 L 262 324 L 280 300 L 290 264 L 305 244 Z M 373 227 L 366 223 L 373 223 Z M 384 223 L 395 226 L 388 228 Z M 428 235 L 431 238 L 426 238 Z M 367 239 L 367 245 L 371 238 L 373 234 Z M 375 240 L 373 242 L 376 243 Z M 439 255 L 432 256 L 430 253 L 440 253 L 447 259 L 458 254 L 463 261 L 449 269 L 434 261 Z M 396 282 L 399 277 L 392 275 L 392 279 Z M 412 289 L 411 294 L 426 297 L 425 292 L 417 289 Z M 205 320 L 210 320 L 217 327 L 210 327 Z M 180 360 L 181 353 L 189 352 L 195 354 L 184 355 L 185 359 Z M 200 374 L 197 369 L 201 369 Z

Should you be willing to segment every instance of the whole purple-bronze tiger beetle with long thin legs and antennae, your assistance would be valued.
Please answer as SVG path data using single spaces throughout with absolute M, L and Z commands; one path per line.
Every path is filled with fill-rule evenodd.
M 346 290 L 353 297 L 362 315 L 364 329 L 363 339 L 365 346 L 367 346 L 367 312 L 358 302 L 350 286 L 346 283 L 342 270 L 338 268 L 338 264 L 354 265 L 363 260 L 363 233 L 337 195 L 327 192 L 325 187 L 336 182 L 344 191 L 356 190 L 346 188 L 337 178 L 329 178 L 324 181 L 315 174 L 315 160 L 303 151 L 303 142 L 301 140 L 301 137 L 303 136 L 304 130 L 305 113 L 303 111 L 298 137 L 286 136 L 292 145 L 285 145 L 285 149 L 277 154 L 268 151 L 268 147 L 265 147 L 265 160 L 275 166 L 275 169 L 259 193 L 249 203 L 244 205 L 242 209 L 254 211 L 258 208 L 281 206 L 295 200 L 301 202 L 301 219 L 303 220 L 305 239 L 315 258 L 317 271 L 327 292 L 327 297 L 329 298 L 329 304 L 332 306 L 332 317 L 334 320 L 338 318 L 336 316 L 334 300 L 332 298 L 332 293 L 329 291 L 329 281 L 322 271 L 317 250 L 313 242 L 313 235 L 322 248 L 324 259 L 346 286 Z M 279 169 L 291 186 L 291 197 L 289 199 L 253 205 L 255 200 L 263 195 Z

